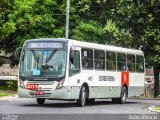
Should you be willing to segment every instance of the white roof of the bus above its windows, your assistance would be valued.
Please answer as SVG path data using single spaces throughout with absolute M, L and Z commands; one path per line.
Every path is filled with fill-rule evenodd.
M 119 52 L 119 53 L 129 53 L 129 54 L 136 54 L 136 55 L 144 55 L 143 51 L 141 51 L 141 50 L 129 49 L 129 48 L 123 48 L 123 47 L 116 47 L 116 46 L 107 45 L 107 44 L 103 45 L 103 44 L 97 44 L 97 43 L 83 42 L 83 41 L 77 41 L 77 40 L 66 39 L 66 38 L 39 38 L 39 39 L 30 39 L 30 40 L 27 40 L 26 42 L 38 42 L 38 41 L 70 42 L 71 45 L 77 46 L 77 47 L 92 48 L 92 49 L 113 51 L 113 52 Z

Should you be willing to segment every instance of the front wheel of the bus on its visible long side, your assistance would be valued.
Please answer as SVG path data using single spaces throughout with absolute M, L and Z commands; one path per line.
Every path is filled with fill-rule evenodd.
M 82 86 L 80 90 L 79 99 L 77 100 L 78 106 L 84 107 L 86 103 L 86 98 L 87 98 L 87 91 L 85 86 Z

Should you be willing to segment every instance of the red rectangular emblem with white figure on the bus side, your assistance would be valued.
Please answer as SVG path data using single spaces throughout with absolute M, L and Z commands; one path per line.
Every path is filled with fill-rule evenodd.
M 123 86 L 124 84 L 129 86 L 129 72 L 121 73 L 121 86 Z

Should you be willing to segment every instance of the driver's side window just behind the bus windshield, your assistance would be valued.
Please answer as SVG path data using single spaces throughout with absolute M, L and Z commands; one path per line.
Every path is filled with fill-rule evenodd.
M 80 72 L 80 53 L 77 50 L 72 50 L 69 58 L 69 76 L 78 72 Z

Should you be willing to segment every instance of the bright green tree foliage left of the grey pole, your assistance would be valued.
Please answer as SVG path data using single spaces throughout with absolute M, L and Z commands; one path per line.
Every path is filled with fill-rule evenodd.
M 5 52 L 14 51 L 27 39 L 64 37 L 65 16 L 54 15 L 64 13 L 62 3 L 52 0 L 14 0 L 13 10 L 7 14 L 8 20 L 1 28 L 1 38 L 14 45 L 8 48 L 4 46 Z

